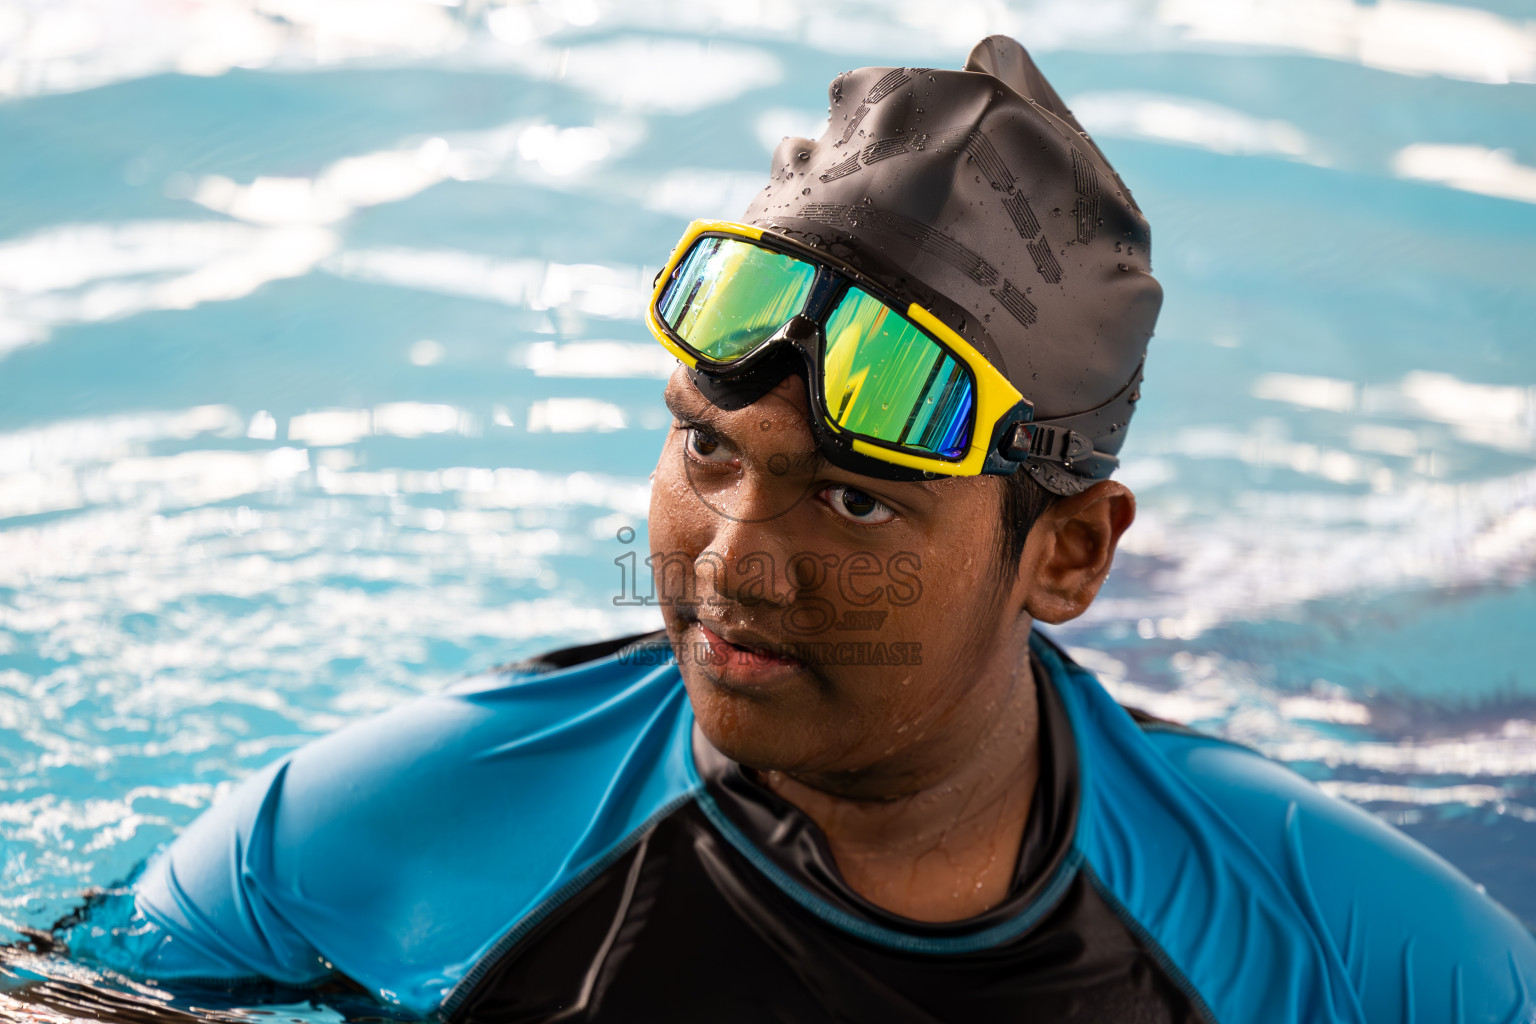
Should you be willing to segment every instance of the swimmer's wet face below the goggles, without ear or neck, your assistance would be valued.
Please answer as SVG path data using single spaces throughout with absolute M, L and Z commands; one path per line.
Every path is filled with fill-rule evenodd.
M 816 453 L 805 384 L 725 411 L 680 368 L 650 534 L 667 631 L 703 734 L 793 774 L 931 761 L 1018 660 L 986 477 L 897 484 Z M 960 728 L 955 728 L 960 726 Z

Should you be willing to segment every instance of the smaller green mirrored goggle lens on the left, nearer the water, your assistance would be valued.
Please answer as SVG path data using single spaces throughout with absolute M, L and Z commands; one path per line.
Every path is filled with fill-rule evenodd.
M 659 312 L 696 353 L 740 359 L 805 309 L 816 267 L 737 238 L 700 238 L 673 272 Z

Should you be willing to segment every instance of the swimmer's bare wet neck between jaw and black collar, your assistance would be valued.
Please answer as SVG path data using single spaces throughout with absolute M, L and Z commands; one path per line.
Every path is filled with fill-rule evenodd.
M 991 679 L 969 692 L 969 722 L 945 722 L 937 743 L 905 751 L 888 771 L 871 766 L 854 786 L 760 774 L 820 826 L 843 878 L 876 906 L 958 921 L 1008 898 L 1040 778 L 1034 674 L 1028 656 L 1009 660 L 982 669 Z

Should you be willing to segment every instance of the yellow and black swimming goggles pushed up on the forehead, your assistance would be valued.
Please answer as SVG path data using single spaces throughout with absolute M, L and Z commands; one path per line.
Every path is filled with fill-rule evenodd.
M 757 227 L 690 224 L 647 322 L 696 381 L 777 382 L 799 356 L 820 450 L 866 476 L 1008 474 L 1092 453 L 1080 434 L 1037 430 L 1018 388 L 931 312 Z

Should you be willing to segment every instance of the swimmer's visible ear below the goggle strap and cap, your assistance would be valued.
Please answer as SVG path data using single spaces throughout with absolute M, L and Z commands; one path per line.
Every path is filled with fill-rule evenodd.
M 1018 560 L 1025 611 L 1038 622 L 1077 619 L 1109 577 L 1120 536 L 1135 522 L 1137 497 L 1118 481 L 1057 499 L 1035 522 Z

